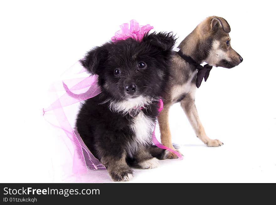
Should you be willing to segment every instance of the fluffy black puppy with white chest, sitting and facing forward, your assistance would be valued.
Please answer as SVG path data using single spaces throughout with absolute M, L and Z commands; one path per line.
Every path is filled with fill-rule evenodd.
M 130 164 L 154 168 L 166 157 L 151 135 L 174 44 L 172 33 L 147 33 L 141 41 L 108 42 L 80 60 L 98 75 L 102 92 L 82 104 L 77 131 L 114 181 L 133 177 Z

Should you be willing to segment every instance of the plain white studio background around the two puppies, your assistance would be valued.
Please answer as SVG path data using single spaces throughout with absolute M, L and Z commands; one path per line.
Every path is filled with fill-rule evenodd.
M 207 135 L 224 146 L 203 145 L 175 104 L 170 125 L 184 159 L 135 170 L 131 182 L 276 182 L 274 6 L 270 1 L 160 0 L 1 1 L 0 182 L 69 181 L 57 163 L 66 163 L 62 143 L 42 117 L 49 105 L 47 89 L 120 24 L 136 19 L 155 31 L 173 31 L 178 45 L 212 15 L 228 21 L 232 48 L 244 59 L 233 69 L 213 68 L 196 94 Z

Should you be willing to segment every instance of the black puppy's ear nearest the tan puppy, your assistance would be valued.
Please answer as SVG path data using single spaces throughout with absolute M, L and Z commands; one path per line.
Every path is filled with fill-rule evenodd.
M 147 34 L 143 40 L 149 42 L 150 44 L 162 49 L 163 51 L 171 50 L 173 49 L 173 46 L 175 44 L 175 36 L 173 35 L 173 32 L 170 33 L 151 33 Z

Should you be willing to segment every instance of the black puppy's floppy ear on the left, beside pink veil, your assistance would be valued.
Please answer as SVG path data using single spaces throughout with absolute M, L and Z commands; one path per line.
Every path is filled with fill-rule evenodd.
M 91 74 L 98 74 L 100 70 L 104 69 L 104 62 L 108 56 L 106 45 L 95 47 L 87 52 L 80 63 Z

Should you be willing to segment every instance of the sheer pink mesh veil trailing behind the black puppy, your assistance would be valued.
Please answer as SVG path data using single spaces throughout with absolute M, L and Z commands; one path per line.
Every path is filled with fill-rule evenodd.
M 78 68 L 78 71 L 81 71 L 78 73 L 82 73 L 83 68 L 80 63 L 75 64 L 74 67 L 75 69 Z M 68 115 L 72 115 L 70 109 L 66 109 L 65 111 L 65 108 L 70 107 L 70 105 L 98 95 L 101 90 L 98 87 L 97 82 L 98 76 L 92 75 L 53 83 L 50 86 L 49 91 L 51 94 L 54 93 L 54 96 L 58 96 L 59 94 L 60 97 L 56 97 L 56 100 L 54 100 L 48 108 L 43 109 L 44 116 L 46 116 L 45 114 L 54 114 L 56 116 L 58 124 L 53 125 L 61 128 L 74 146 L 74 150 L 72 151 L 72 153 L 74 153 L 72 167 L 73 174 L 82 174 L 87 171 L 106 169 L 88 150 L 78 132 L 73 129 L 74 122 L 68 120 Z M 69 85 L 71 85 L 70 89 L 68 88 Z

